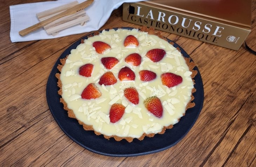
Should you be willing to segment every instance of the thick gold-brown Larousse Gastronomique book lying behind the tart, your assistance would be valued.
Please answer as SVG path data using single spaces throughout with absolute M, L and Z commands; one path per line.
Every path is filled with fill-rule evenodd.
M 151 0 L 124 3 L 123 20 L 238 50 L 251 30 L 251 1 Z

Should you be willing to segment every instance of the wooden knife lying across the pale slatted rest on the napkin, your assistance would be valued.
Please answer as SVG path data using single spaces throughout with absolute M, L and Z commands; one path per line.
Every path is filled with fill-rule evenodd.
M 87 0 L 85 2 L 82 2 L 81 4 L 78 4 L 78 5 L 70 8 L 70 9 L 67 9 L 64 12 L 61 12 L 60 14 L 57 14 L 57 15 L 51 17 L 51 18 L 43 20 L 43 21 L 41 21 L 39 23 L 36 23 L 33 26 L 30 26 L 30 27 L 28 27 L 26 29 L 23 29 L 23 30 L 19 31 L 19 34 L 20 34 L 20 36 L 25 36 L 25 35 L 33 32 L 33 31 L 43 27 L 43 26 L 48 25 L 49 23 L 51 23 L 51 22 L 53 22 L 53 21 L 55 21 L 57 19 L 60 19 L 60 18 L 62 18 L 64 16 L 67 16 L 67 15 L 70 15 L 70 14 L 75 14 L 76 12 L 81 11 L 81 10 L 87 8 L 88 6 L 90 6 L 93 3 L 93 1 L 94 0 Z

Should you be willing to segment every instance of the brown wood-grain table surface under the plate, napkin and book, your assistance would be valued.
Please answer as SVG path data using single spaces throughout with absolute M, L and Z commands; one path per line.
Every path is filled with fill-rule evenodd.
M 159 153 L 120 158 L 69 139 L 50 113 L 46 83 L 61 53 L 88 33 L 11 43 L 9 5 L 36 1 L 0 2 L 0 166 L 256 166 L 256 56 L 169 33 L 162 35 L 186 50 L 203 79 L 204 106 L 186 137 Z M 254 49 L 255 20 L 253 0 Z M 119 8 L 101 30 L 121 26 L 140 27 L 123 22 Z

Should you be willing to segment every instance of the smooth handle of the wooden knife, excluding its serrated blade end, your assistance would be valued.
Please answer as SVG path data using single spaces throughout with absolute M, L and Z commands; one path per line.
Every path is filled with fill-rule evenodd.
M 43 21 L 41 21 L 41 22 L 39 22 L 39 23 L 36 23 L 36 24 L 33 25 L 33 26 L 30 26 L 30 27 L 28 27 L 28 28 L 25 28 L 25 29 L 19 31 L 19 34 L 20 34 L 20 36 L 25 36 L 25 35 L 27 35 L 27 34 L 33 32 L 33 31 L 35 31 L 35 30 L 37 30 L 37 29 L 43 27 L 43 26 L 48 25 L 49 23 L 51 23 L 51 22 L 53 22 L 53 21 L 55 21 L 55 20 L 57 20 L 57 19 L 60 19 L 60 18 L 62 18 L 62 17 L 64 17 L 64 16 L 67 16 L 67 15 L 70 15 L 70 14 L 74 14 L 74 13 L 76 13 L 76 11 L 73 12 L 73 13 L 71 13 L 71 12 L 69 12 L 69 11 L 62 12 L 62 13 L 57 14 L 57 15 L 55 15 L 55 16 L 49 18 L 49 19 L 43 20 Z

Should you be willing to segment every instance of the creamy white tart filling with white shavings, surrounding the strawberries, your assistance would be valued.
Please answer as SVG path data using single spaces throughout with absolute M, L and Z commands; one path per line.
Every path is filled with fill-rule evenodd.
M 123 41 L 128 35 L 137 37 L 140 43 L 137 48 L 123 46 Z M 104 55 L 98 54 L 92 46 L 95 41 L 106 42 L 112 49 Z M 163 48 L 166 51 L 166 56 L 160 62 L 154 63 L 145 56 L 147 51 L 154 48 Z M 142 56 L 140 66 L 131 67 L 124 61 L 124 58 L 132 53 Z M 119 63 L 113 69 L 107 70 L 102 67 L 100 60 L 102 57 L 116 57 Z M 86 63 L 94 65 L 92 77 L 89 78 L 79 75 L 80 66 Z M 118 72 L 124 66 L 135 72 L 135 81 L 119 81 Z M 155 72 L 156 79 L 142 82 L 139 77 L 139 71 L 142 69 Z M 117 83 L 113 86 L 101 86 L 97 83 L 106 71 L 113 71 L 117 78 Z M 174 88 L 167 88 L 162 85 L 160 78 L 160 75 L 165 72 L 180 75 L 183 82 Z M 100 35 L 89 37 L 85 43 L 81 43 L 76 49 L 71 50 L 60 76 L 62 98 L 68 108 L 73 110 L 76 118 L 87 125 L 93 125 L 95 131 L 108 136 L 139 138 L 143 133 L 161 132 L 163 126 L 176 124 L 178 119 L 183 116 L 186 105 L 191 99 L 191 90 L 194 88 L 190 75 L 191 72 L 181 53 L 167 41 L 137 29 L 103 30 Z M 98 86 L 102 92 L 100 98 L 92 100 L 81 98 L 83 89 L 89 83 L 95 83 Z M 130 86 L 135 87 L 139 92 L 140 102 L 136 106 L 123 96 L 123 90 Z M 144 99 L 151 96 L 160 98 L 164 110 L 162 118 L 155 117 L 144 107 Z M 109 121 L 109 110 L 114 103 L 126 106 L 123 117 L 115 124 Z

